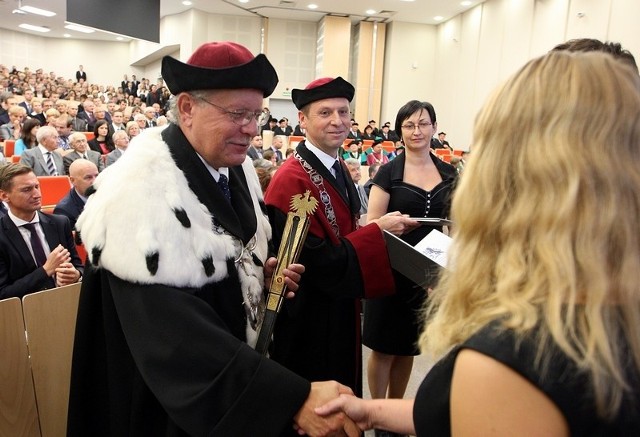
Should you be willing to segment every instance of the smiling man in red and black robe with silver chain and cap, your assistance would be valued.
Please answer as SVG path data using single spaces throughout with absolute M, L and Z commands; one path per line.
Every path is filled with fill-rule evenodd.
M 362 393 L 360 298 L 393 293 L 383 230 L 401 234 L 417 223 L 400 213 L 358 227 L 360 199 L 338 156 L 349 128 L 353 86 L 341 77 L 294 89 L 306 139 L 276 172 L 265 200 L 279 241 L 292 196 L 309 190 L 319 204 L 300 262 L 305 274 L 295 300 L 285 302 L 272 358 L 305 378 L 335 379 Z

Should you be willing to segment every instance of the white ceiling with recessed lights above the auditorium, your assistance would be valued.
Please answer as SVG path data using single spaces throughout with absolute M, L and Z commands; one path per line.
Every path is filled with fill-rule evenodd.
M 46 18 L 33 14 L 18 15 L 13 11 L 22 5 L 33 6 L 55 12 L 55 17 Z M 135 1 L 135 0 L 131 0 Z M 353 22 L 362 20 L 391 22 L 403 21 L 410 23 L 437 24 L 474 7 L 485 0 L 472 0 L 470 5 L 463 6 L 462 0 L 249 0 L 241 3 L 239 0 L 192 0 L 191 6 L 184 6 L 182 0 L 160 0 L 160 16 L 178 14 L 195 8 L 208 13 L 222 15 L 262 16 L 300 21 L 318 22 L 327 15 L 349 16 Z M 309 9 L 307 6 L 315 3 L 318 8 Z M 104 1 L 105 19 L 117 20 L 117 14 L 109 11 L 108 0 Z M 366 11 L 375 11 L 367 15 Z M 443 17 L 437 21 L 435 16 Z M 106 32 L 83 34 L 64 28 L 66 18 L 66 0 L 0 0 L 0 28 L 34 35 L 64 38 L 64 34 L 77 39 L 98 39 L 113 41 L 116 36 Z M 50 32 L 40 33 L 23 30 L 18 27 L 21 23 L 45 26 Z M 127 41 L 128 38 L 125 38 Z

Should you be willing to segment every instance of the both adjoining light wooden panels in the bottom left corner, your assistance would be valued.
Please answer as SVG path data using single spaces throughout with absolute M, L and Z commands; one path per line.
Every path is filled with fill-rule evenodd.
M 78 283 L 0 301 L 1 436 L 66 435 L 79 296 Z

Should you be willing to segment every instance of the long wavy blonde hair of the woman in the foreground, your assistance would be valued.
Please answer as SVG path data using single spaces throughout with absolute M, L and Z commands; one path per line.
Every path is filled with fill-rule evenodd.
M 613 152 L 613 153 L 612 153 Z M 602 53 L 535 59 L 475 121 L 454 195 L 447 272 L 421 346 L 464 342 L 493 320 L 539 333 L 593 384 L 614 416 L 640 374 L 640 77 Z

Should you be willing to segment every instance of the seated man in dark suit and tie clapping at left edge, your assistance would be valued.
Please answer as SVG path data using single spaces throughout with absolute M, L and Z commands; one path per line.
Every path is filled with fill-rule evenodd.
M 78 282 L 83 267 L 66 217 L 39 212 L 38 178 L 26 165 L 0 169 L 0 299 Z

